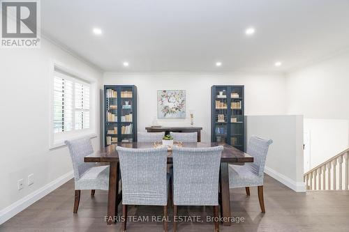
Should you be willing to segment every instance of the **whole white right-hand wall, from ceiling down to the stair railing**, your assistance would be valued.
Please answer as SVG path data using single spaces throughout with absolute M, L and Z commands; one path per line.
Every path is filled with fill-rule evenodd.
M 349 54 L 341 54 L 286 76 L 288 114 L 303 114 L 306 119 L 326 122 L 304 121 L 304 127 L 313 130 L 311 160 L 317 164 L 344 150 L 343 146 L 348 148 L 348 63 Z

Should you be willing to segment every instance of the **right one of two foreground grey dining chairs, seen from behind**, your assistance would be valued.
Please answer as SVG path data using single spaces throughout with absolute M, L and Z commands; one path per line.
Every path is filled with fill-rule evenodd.
M 223 146 L 173 147 L 173 231 L 177 231 L 177 206 L 213 206 L 218 217 L 218 180 Z M 219 231 L 218 220 L 214 231 Z

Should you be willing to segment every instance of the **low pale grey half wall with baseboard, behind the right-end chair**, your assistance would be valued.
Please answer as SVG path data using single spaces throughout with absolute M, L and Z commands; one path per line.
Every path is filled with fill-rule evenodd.
M 296 192 L 304 192 L 303 116 L 246 116 L 246 136 L 272 139 L 265 173 Z

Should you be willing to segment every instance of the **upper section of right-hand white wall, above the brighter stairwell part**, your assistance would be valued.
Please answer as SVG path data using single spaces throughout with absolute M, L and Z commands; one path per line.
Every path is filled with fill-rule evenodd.
M 342 54 L 286 77 L 288 114 L 304 118 L 349 119 L 349 54 Z

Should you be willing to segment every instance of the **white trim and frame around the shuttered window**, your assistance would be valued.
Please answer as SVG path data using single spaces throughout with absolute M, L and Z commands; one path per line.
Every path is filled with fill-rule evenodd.
M 50 121 L 49 121 L 49 149 L 54 149 L 54 148 L 59 148 L 62 146 L 65 146 L 64 141 L 67 139 L 77 139 L 79 137 L 91 137 L 95 138 L 97 136 L 96 132 L 96 112 L 97 112 L 97 85 L 96 85 L 96 80 L 91 79 L 89 77 L 86 77 L 84 75 L 81 75 L 79 72 L 75 71 L 73 68 L 69 68 L 68 65 L 65 65 L 59 61 L 51 61 L 50 62 L 50 98 L 49 98 L 49 109 L 50 109 Z M 63 72 L 66 72 L 68 76 L 73 77 L 74 81 L 77 79 L 77 82 L 80 82 L 82 84 L 89 84 L 90 85 L 90 96 L 89 96 L 89 118 L 90 118 L 90 127 L 86 129 L 80 129 L 80 130 L 75 130 L 75 125 L 73 124 L 73 130 L 64 132 L 64 133 L 54 133 L 54 75 L 55 75 L 55 69 L 59 69 Z M 75 90 L 73 91 L 73 93 Z M 74 93 L 75 94 L 75 93 Z M 73 98 L 73 100 L 75 100 Z M 73 109 L 75 111 L 75 109 Z M 75 117 L 75 116 L 73 116 Z M 75 118 L 74 118 L 75 119 Z

